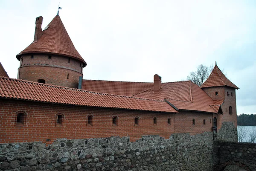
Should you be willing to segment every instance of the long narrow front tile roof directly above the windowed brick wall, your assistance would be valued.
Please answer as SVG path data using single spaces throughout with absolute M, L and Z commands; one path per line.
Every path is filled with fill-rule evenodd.
M 95 93 L 5 77 L 0 77 L 0 98 L 89 107 L 177 113 L 165 101 Z

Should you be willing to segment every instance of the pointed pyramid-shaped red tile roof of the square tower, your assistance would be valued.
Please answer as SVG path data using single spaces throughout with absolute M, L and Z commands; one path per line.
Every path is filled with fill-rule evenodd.
M 239 89 L 238 87 L 236 87 L 235 84 L 233 84 L 229 79 L 227 79 L 227 77 L 221 72 L 218 66 L 215 65 L 211 74 L 209 75 L 209 78 L 207 78 L 207 80 L 204 81 L 204 84 L 201 86 L 201 88 L 219 86 L 229 86 L 235 89 Z

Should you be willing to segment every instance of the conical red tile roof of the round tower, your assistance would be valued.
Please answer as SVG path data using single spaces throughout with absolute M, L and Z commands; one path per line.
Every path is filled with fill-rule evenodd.
M 42 52 L 72 57 L 86 65 L 86 62 L 73 45 L 59 15 L 56 15 L 47 27 L 48 29 L 43 31 L 43 35 L 38 41 L 31 43 L 17 55 L 18 60 L 20 60 L 22 54 Z

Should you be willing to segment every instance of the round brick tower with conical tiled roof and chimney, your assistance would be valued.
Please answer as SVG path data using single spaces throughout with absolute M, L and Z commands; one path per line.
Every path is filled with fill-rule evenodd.
M 73 45 L 60 16 L 42 30 L 43 17 L 35 19 L 34 41 L 16 57 L 18 79 L 78 88 L 86 62 Z

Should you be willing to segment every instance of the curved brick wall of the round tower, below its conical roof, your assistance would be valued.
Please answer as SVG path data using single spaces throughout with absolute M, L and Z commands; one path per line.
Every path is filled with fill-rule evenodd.
M 78 88 L 79 76 L 82 76 L 82 63 L 78 60 L 59 55 L 34 54 L 23 55 L 20 60 L 18 78 L 37 82 L 44 79 L 46 84 Z M 81 64 L 81 67 L 80 67 Z M 67 74 L 69 78 L 67 79 Z

